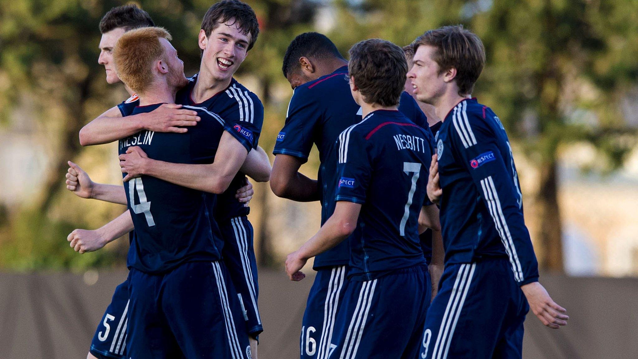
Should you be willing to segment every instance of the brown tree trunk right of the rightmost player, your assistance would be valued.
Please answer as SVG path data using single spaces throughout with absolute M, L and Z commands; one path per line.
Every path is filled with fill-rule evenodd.
M 558 207 L 558 165 L 556 160 L 540 164 L 540 189 L 537 195 L 540 219 L 540 250 L 538 265 L 551 271 L 563 272 L 563 242 L 560 210 Z

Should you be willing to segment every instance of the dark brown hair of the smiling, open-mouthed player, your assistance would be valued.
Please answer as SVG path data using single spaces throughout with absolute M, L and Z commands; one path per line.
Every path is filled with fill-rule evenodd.
M 237 24 L 242 34 L 251 34 L 246 51 L 252 49 L 259 34 L 259 22 L 257 21 L 257 15 L 255 15 L 253 8 L 241 1 L 222 0 L 219 1 L 219 3 L 213 4 L 204 15 L 202 30 L 206 33 L 206 37 L 209 37 L 219 24 L 223 24 L 229 20 L 233 20 L 234 24 Z

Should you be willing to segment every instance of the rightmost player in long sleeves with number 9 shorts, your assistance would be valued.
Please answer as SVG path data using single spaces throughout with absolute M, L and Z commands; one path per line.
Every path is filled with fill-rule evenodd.
M 505 129 L 470 98 L 485 64 L 483 43 L 463 26 L 446 26 L 419 36 L 414 49 L 414 93 L 443 119 L 427 192 L 441 205 L 445 271 L 420 357 L 521 358 L 530 307 L 551 328 L 568 316 L 538 283 Z

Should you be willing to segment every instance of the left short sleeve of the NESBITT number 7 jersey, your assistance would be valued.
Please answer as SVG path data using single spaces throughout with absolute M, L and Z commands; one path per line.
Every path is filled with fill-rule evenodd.
M 339 135 L 339 163 L 335 201 L 363 204 L 371 180 L 369 145 L 362 134 L 348 132 Z

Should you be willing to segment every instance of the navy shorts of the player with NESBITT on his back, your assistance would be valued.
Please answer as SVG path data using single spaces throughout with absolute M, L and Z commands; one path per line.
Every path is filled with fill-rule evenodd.
M 415 359 L 430 303 L 427 266 L 348 283 L 330 358 Z M 327 357 L 326 357 L 327 358 Z

